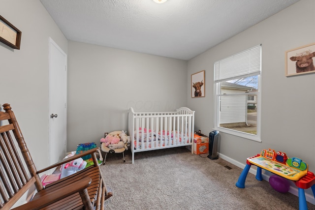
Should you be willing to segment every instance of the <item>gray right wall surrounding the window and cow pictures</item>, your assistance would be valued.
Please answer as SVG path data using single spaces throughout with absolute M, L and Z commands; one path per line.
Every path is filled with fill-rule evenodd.
M 315 171 L 315 74 L 285 77 L 285 51 L 315 43 L 315 1 L 300 0 L 272 17 L 189 60 L 188 75 L 206 70 L 206 97 L 188 97 L 195 129 L 214 127 L 214 62 L 262 44 L 262 143 L 221 133 L 221 157 L 244 165 L 262 149 L 302 158 Z M 190 96 L 189 82 L 187 95 Z

